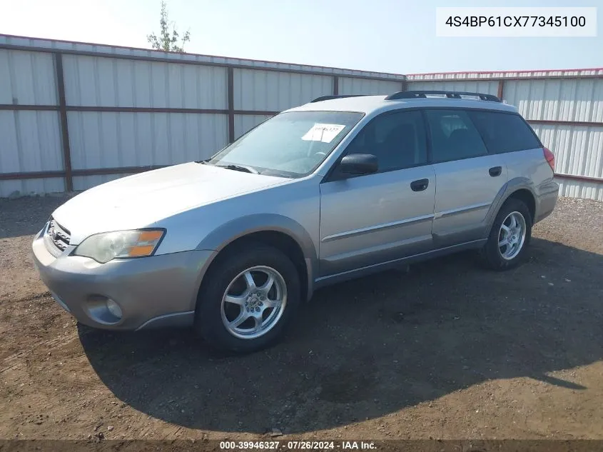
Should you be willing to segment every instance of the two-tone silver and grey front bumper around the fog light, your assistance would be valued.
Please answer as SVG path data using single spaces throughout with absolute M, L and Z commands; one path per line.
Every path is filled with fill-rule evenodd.
M 193 323 L 201 278 L 216 251 L 183 251 L 98 263 L 55 257 L 44 243 L 44 230 L 32 244 L 41 280 L 53 297 L 81 323 L 95 328 L 136 330 Z M 116 302 L 121 318 L 108 314 L 106 301 Z

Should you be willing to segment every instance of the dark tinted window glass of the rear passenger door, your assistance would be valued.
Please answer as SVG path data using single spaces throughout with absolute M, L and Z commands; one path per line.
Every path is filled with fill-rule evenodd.
M 432 161 L 470 159 L 488 154 L 467 112 L 425 110 L 430 126 Z

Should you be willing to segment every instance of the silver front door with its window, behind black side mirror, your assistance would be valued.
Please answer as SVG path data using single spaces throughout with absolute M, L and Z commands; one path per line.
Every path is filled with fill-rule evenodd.
M 435 172 L 419 111 L 377 116 L 344 155 L 373 154 L 375 174 L 320 185 L 320 276 L 393 261 L 432 248 Z

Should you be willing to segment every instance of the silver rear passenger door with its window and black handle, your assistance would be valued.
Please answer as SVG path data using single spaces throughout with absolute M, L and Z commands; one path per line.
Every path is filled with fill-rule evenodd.
M 507 166 L 489 154 L 467 111 L 427 109 L 437 193 L 433 240 L 437 248 L 485 236 L 486 216 L 507 184 Z

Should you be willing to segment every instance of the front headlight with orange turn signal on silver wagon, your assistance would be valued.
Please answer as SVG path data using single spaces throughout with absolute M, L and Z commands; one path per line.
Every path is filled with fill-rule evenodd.
M 165 233 L 165 229 L 97 233 L 81 242 L 74 255 L 93 258 L 100 263 L 114 258 L 151 256 Z

